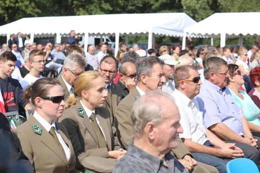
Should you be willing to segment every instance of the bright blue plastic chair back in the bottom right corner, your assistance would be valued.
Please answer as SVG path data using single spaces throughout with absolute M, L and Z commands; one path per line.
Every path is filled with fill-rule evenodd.
M 227 162 L 227 173 L 259 173 L 256 164 L 248 158 L 235 158 Z

